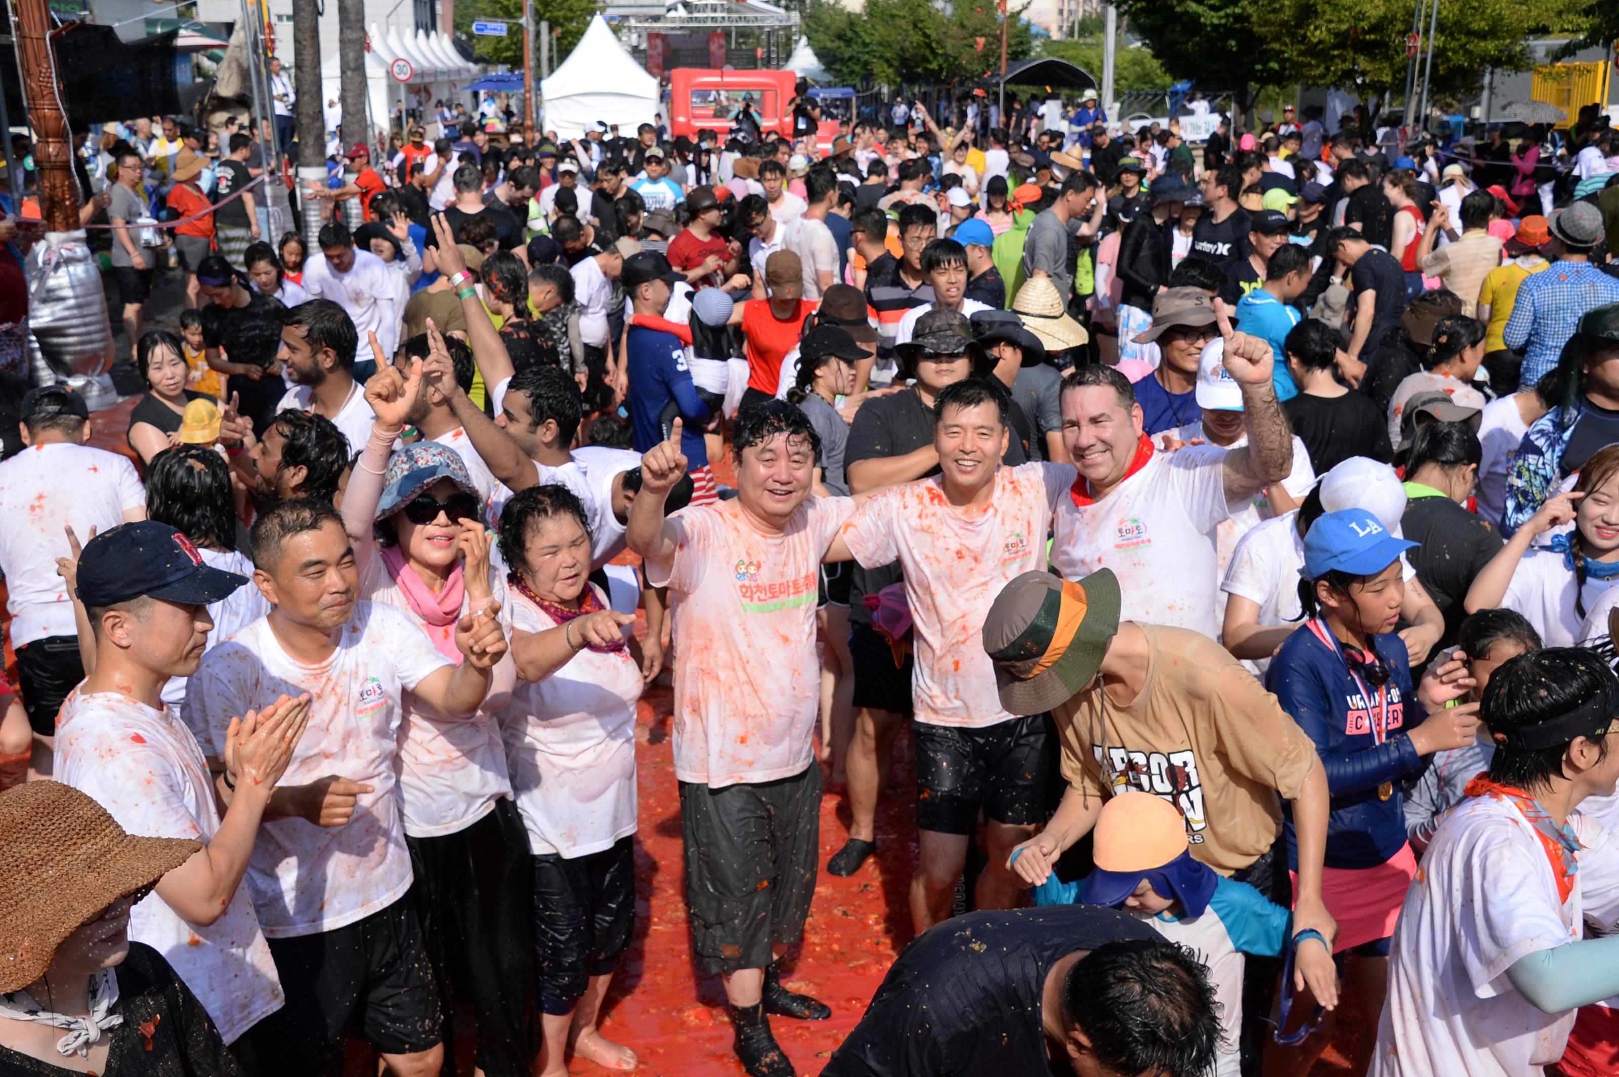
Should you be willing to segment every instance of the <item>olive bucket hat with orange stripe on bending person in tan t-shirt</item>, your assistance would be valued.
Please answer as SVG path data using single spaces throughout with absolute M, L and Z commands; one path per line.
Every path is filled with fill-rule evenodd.
M 1111 568 L 1083 580 L 1025 572 L 1007 581 L 983 628 L 1001 706 L 1041 714 L 1067 703 L 1096 680 L 1117 632 L 1119 578 Z

